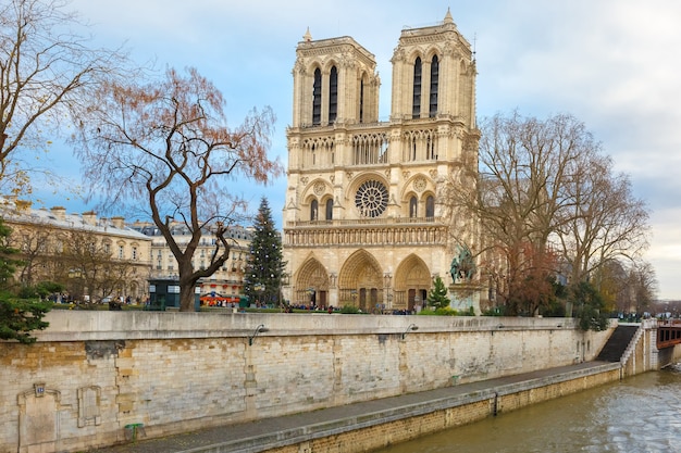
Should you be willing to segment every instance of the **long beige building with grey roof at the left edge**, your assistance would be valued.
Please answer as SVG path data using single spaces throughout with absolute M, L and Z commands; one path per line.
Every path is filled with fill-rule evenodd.
M 22 260 L 17 285 L 61 284 L 59 301 L 148 297 L 151 239 L 125 226 L 125 218 L 67 214 L 61 206 L 36 210 L 15 198 L 2 199 L 0 217 L 12 229 L 9 246 Z

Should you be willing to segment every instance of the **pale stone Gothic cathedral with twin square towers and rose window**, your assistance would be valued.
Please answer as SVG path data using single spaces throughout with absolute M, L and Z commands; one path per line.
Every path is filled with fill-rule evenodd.
M 414 311 L 439 276 L 451 284 L 451 307 L 480 313 L 484 291 L 449 277 L 460 231 L 470 243 L 476 228 L 446 209 L 444 187 L 476 171 L 480 137 L 474 54 L 451 14 L 401 30 L 387 122 L 371 52 L 347 36 L 314 40 L 308 29 L 302 38 L 286 133 L 284 297 Z

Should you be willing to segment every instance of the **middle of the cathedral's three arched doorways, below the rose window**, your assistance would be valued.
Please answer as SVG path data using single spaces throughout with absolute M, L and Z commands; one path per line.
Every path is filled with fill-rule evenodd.
M 383 272 L 375 257 L 358 250 L 346 260 L 338 275 L 340 305 L 352 305 L 371 313 L 383 303 Z

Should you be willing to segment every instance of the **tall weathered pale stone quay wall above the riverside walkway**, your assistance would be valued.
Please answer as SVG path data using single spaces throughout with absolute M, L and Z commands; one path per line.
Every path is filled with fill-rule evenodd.
M 566 318 L 53 311 L 47 320 L 36 344 L 0 342 L 0 452 L 75 452 L 122 442 L 134 424 L 153 438 L 591 361 L 610 335 Z

